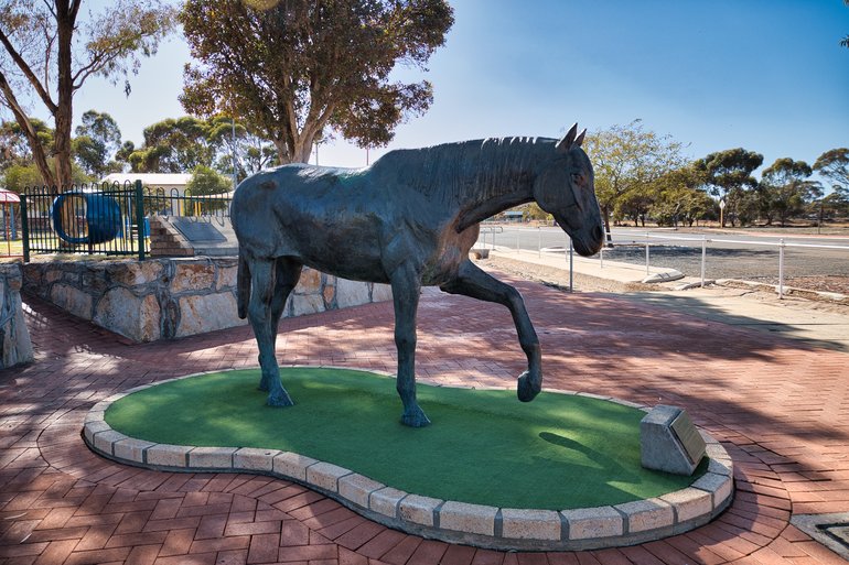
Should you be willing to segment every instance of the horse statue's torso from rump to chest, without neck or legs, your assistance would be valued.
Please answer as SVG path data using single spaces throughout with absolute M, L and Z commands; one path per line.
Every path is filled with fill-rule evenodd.
M 381 283 L 411 261 L 424 284 L 440 284 L 468 257 L 476 232 L 458 233 L 456 211 L 405 176 L 396 167 L 309 165 L 251 176 L 237 188 L 230 213 L 239 253 L 288 257 L 344 279 Z

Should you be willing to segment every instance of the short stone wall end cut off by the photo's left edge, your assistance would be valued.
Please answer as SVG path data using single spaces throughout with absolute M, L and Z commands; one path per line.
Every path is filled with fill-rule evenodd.
M 23 320 L 21 265 L 0 264 L 0 369 L 32 361 L 32 341 Z

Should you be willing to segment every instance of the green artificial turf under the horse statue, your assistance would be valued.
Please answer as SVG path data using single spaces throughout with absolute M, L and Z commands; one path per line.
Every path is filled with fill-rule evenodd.
M 546 392 L 522 403 L 515 391 L 419 383 L 432 424 L 410 428 L 390 378 L 322 368 L 280 376 L 294 406 L 267 406 L 254 369 L 136 392 L 112 403 L 106 421 L 139 439 L 294 452 L 407 492 L 502 508 L 617 504 L 694 480 L 642 468 L 645 414 L 621 404 Z

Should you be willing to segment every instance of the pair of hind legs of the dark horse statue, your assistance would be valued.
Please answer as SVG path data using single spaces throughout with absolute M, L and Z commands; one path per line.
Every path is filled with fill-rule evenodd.
M 250 274 L 252 292 L 248 319 L 254 327 L 254 335 L 259 346 L 259 366 L 262 374 L 259 389 L 268 391 L 270 406 L 290 406 L 293 402 L 280 383 L 275 345 L 277 324 L 289 293 L 298 284 L 301 265 L 284 259 L 255 261 Z

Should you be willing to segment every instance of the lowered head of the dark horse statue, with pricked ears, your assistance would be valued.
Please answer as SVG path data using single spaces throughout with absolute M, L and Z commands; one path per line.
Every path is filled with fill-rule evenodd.
M 595 199 L 592 163 L 581 149 L 583 130 L 576 123 L 555 144 L 555 155 L 534 182 L 534 199 L 572 238 L 576 251 L 584 257 L 598 253 L 604 243 L 599 202 Z

